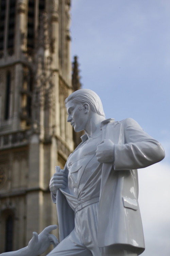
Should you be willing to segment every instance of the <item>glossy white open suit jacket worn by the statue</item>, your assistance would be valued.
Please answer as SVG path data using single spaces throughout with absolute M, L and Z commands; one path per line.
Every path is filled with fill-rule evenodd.
M 98 246 L 120 246 L 139 255 L 145 250 L 145 243 L 138 206 L 137 169 L 162 160 L 164 149 L 132 118 L 120 122 L 106 119 L 101 129 L 102 138 L 115 144 L 115 161 L 103 163 L 102 167 Z M 74 228 L 74 212 L 60 190 L 57 197 L 52 194 L 52 200 L 57 203 L 61 242 Z

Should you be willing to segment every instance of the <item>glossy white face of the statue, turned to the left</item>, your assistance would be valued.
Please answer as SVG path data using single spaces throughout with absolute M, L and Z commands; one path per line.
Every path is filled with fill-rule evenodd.
M 70 100 L 66 104 L 68 113 L 67 122 L 70 122 L 74 131 L 79 132 L 85 129 L 88 114 L 85 114 L 84 108 L 80 109 L 80 104 Z

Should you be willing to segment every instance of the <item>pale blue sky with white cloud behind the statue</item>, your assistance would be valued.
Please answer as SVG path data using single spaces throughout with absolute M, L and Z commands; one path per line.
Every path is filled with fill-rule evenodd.
M 143 256 L 170 252 L 170 1 L 72 0 L 71 53 L 106 118 L 134 118 L 165 159 L 139 170 Z

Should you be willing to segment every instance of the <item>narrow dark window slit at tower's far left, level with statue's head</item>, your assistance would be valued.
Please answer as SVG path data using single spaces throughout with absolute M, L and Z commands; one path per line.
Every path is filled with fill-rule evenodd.
M 5 91 L 5 113 L 4 119 L 7 120 L 10 117 L 10 91 L 11 91 L 11 73 L 6 74 L 6 91 Z

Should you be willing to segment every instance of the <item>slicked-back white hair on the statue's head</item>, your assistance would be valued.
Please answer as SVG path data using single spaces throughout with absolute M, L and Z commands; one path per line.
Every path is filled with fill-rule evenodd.
M 90 89 L 79 89 L 74 91 L 74 93 L 70 94 L 65 100 L 65 104 L 67 104 L 67 102 L 70 100 L 79 104 L 80 108 L 83 108 L 84 103 L 88 103 L 91 111 L 105 117 L 102 102 L 99 96 Z

